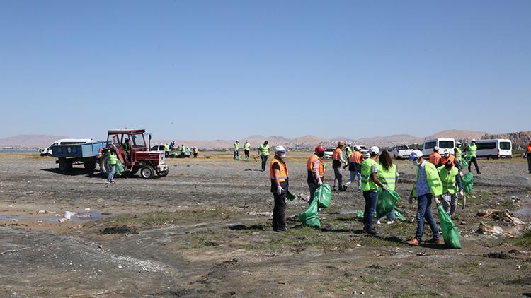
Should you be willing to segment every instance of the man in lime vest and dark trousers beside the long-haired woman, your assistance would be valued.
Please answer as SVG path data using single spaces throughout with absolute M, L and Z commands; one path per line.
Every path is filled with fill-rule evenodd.
M 361 190 L 365 198 L 365 211 L 363 213 L 363 232 L 377 235 L 372 219 L 376 213 L 376 203 L 378 201 L 378 186 L 387 191 L 387 186 L 378 179 L 378 158 L 379 148 L 373 146 L 369 148 L 370 158 L 363 160 L 361 164 Z

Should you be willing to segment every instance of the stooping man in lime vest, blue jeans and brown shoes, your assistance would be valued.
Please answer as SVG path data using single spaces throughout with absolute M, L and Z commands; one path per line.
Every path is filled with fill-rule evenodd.
M 413 203 L 413 198 L 417 199 L 417 232 L 415 237 L 406 241 L 410 245 L 418 245 L 424 234 L 424 220 L 430 223 L 433 238 L 428 243 L 442 244 L 440 239 L 437 222 L 433 218 L 431 210 L 431 201 L 440 203 L 439 196 L 442 195 L 442 182 L 440 181 L 439 172 L 435 165 L 424 160 L 421 150 L 413 150 L 409 160 L 415 166 L 415 178 L 413 179 L 413 191 L 409 196 L 409 203 Z

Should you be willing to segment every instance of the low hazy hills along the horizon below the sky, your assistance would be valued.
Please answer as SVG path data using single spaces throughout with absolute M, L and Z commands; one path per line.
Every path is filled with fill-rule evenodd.
M 68 138 L 66 136 L 43 136 L 43 135 L 19 135 L 8 138 L 0 138 L 0 148 L 42 148 L 50 145 L 59 138 Z M 316 145 L 334 146 L 338 141 L 350 142 L 359 145 L 379 145 L 390 146 L 394 144 L 413 144 L 421 143 L 428 138 L 455 138 L 461 141 L 469 141 L 472 138 L 508 138 L 515 144 L 524 143 L 531 138 L 531 131 L 520 131 L 516 133 L 491 134 L 484 131 L 461 131 L 446 130 L 434 133 L 431 136 L 419 138 L 416 136 L 401 134 L 393 136 L 375 136 L 372 138 L 319 138 L 317 136 L 301 136 L 299 138 L 285 138 L 283 136 L 248 136 L 240 138 L 240 147 L 243 148 L 245 140 L 251 143 L 253 148 L 257 148 L 263 141 L 268 140 L 270 145 L 284 145 L 288 148 L 297 150 L 312 149 Z M 176 141 L 176 145 L 185 144 L 188 147 L 198 147 L 202 149 L 222 149 L 232 148 L 234 140 L 214 140 L 214 141 L 190 141 L 190 140 L 152 140 L 152 144 L 166 143 Z

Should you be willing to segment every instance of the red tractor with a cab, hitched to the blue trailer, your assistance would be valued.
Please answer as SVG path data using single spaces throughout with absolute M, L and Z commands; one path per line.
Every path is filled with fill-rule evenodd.
M 115 147 L 118 159 L 125 169 L 124 174 L 134 175 L 140 170 L 144 179 L 152 179 L 155 174 L 166 176 L 169 167 L 164 161 L 164 152 L 148 151 L 144 129 L 117 129 L 107 133 L 107 145 L 102 150 L 100 169 L 105 176 L 109 172 L 108 152 Z

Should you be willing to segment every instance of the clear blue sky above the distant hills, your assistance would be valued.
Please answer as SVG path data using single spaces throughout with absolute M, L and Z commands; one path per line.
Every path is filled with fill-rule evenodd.
M 0 137 L 529 130 L 530 16 L 527 0 L 1 1 Z

